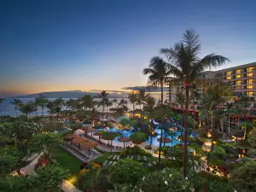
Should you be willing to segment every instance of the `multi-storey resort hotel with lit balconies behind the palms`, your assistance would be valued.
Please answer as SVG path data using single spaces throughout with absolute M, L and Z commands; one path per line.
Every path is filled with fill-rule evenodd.
M 247 114 L 248 119 L 256 121 L 256 62 L 249 63 L 246 65 L 225 68 L 218 71 L 206 71 L 201 73 L 203 79 L 219 79 L 224 81 L 232 87 L 235 92 L 235 96 L 246 95 L 251 98 L 252 105 L 250 107 L 250 114 Z M 203 88 L 198 88 L 201 92 Z M 175 102 L 178 91 L 184 90 L 183 82 L 176 85 L 171 83 L 167 84 L 166 87 L 166 100 L 169 103 Z M 255 103 L 253 103 L 255 101 Z M 174 108 L 174 107 L 173 107 Z M 180 108 L 174 108 L 179 110 Z M 192 111 L 194 106 L 189 106 L 189 110 Z M 195 113 L 198 113 L 198 108 L 195 104 Z M 236 120 L 237 121 L 237 120 Z

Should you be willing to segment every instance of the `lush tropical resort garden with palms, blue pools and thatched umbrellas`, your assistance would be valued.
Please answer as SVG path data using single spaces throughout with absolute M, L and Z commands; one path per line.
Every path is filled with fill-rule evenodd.
M 128 101 L 110 100 L 105 90 L 97 101 L 15 99 L 17 117 L 0 117 L 0 191 L 61 191 L 63 179 L 88 192 L 256 191 L 253 101 L 234 97 L 230 84 L 201 79 L 203 70 L 227 59 L 200 59 L 200 48 L 196 33 L 187 31 L 172 49 L 161 49 L 166 61 L 154 57 L 143 70 L 148 85 L 162 88 L 161 98 L 131 92 L 130 111 Z M 170 75 L 183 91 L 165 103 Z M 37 108 L 50 116 L 29 118 Z

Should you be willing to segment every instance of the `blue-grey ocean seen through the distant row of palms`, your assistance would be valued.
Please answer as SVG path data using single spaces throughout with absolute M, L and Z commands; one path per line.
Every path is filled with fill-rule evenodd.
M 49 101 L 54 101 L 55 99 L 56 98 L 48 98 Z M 62 99 L 64 101 L 69 100 L 69 98 L 62 98 Z M 113 100 L 111 98 L 109 98 L 109 99 Z M 121 99 L 124 99 L 124 98 L 117 98 L 117 101 L 119 102 Z M 125 99 L 125 100 L 128 101 L 128 99 Z M 4 99 L 3 102 L 0 103 L 0 116 L 8 115 L 8 116 L 15 117 L 15 116 L 17 116 L 17 113 L 20 115 L 19 111 L 17 111 L 17 113 L 15 112 L 15 106 L 10 103 L 12 101 L 13 101 L 13 99 L 9 98 L 9 99 Z M 23 103 L 35 102 L 35 98 L 20 98 L 20 101 Z M 113 106 L 111 108 L 114 108 L 114 106 L 115 106 L 115 103 L 113 103 Z M 132 104 L 130 102 L 128 102 L 128 108 L 132 110 Z M 137 106 L 137 108 L 139 108 L 139 107 Z M 65 110 L 65 109 L 67 109 L 65 106 L 62 107 L 62 110 Z M 44 108 L 44 114 L 49 114 L 47 111 L 48 111 L 48 109 Z M 41 115 L 42 108 L 38 107 L 38 112 L 31 113 L 31 116 L 37 116 L 37 113 L 38 113 L 38 115 Z

